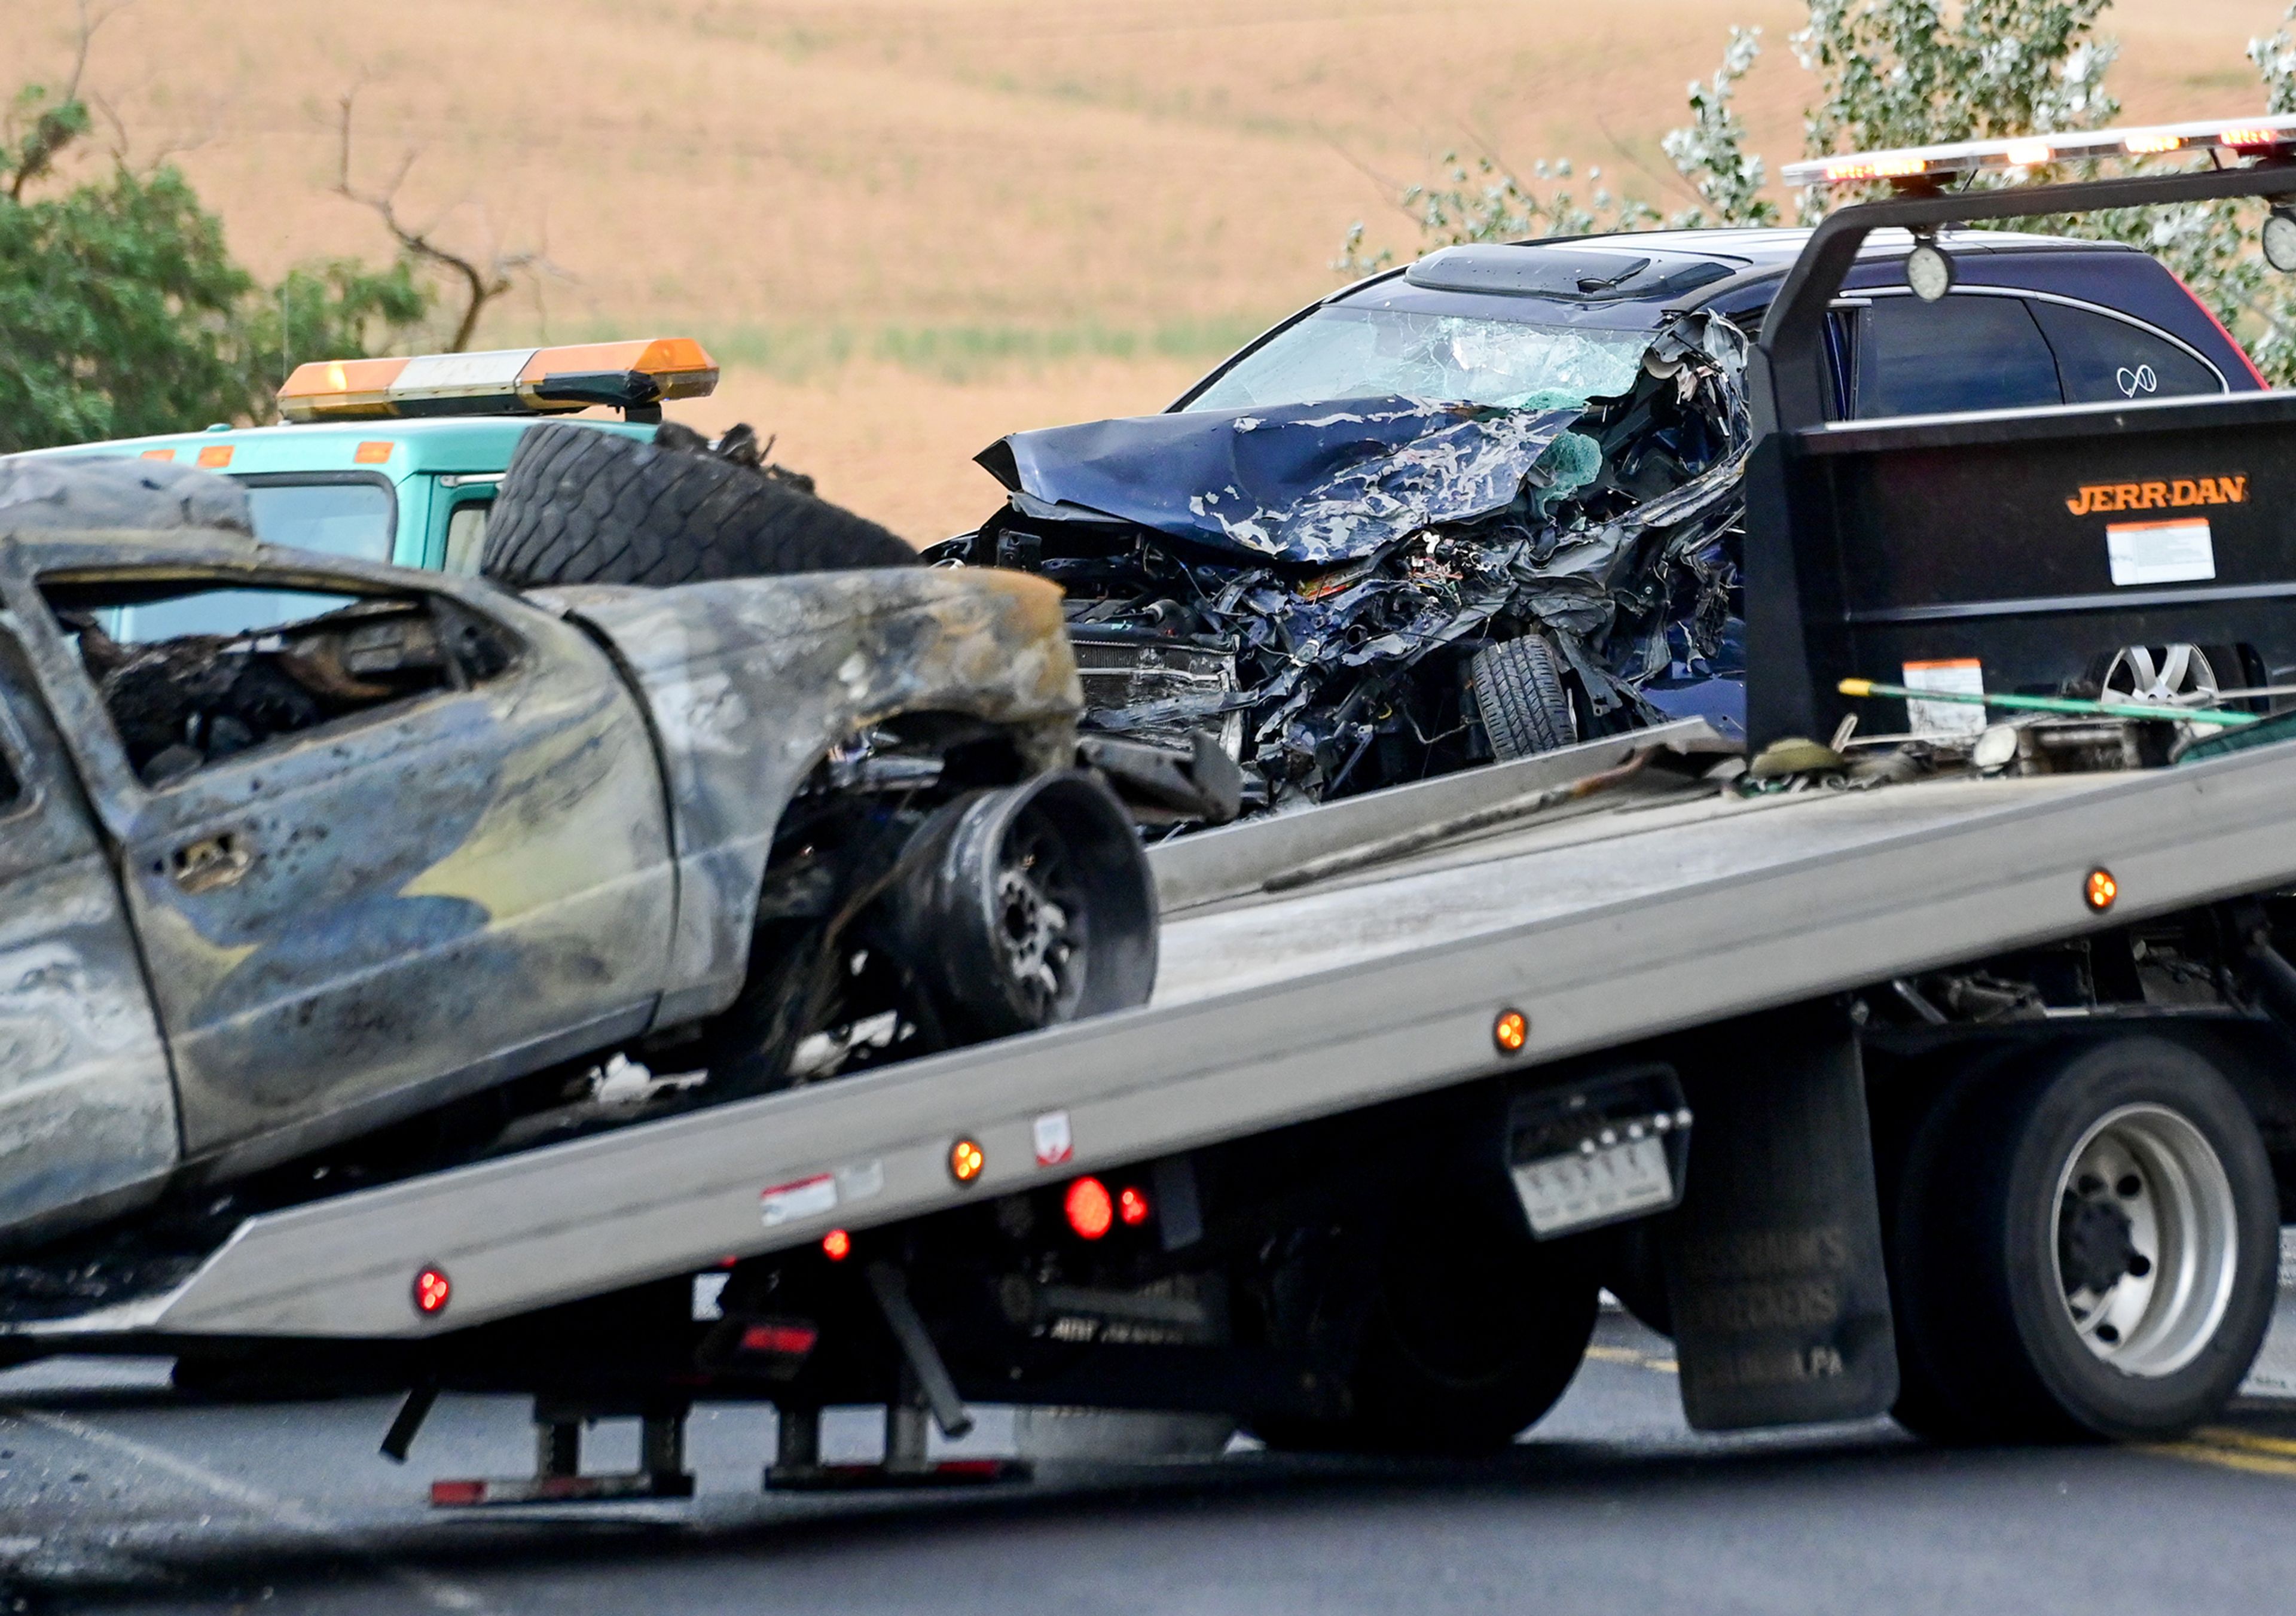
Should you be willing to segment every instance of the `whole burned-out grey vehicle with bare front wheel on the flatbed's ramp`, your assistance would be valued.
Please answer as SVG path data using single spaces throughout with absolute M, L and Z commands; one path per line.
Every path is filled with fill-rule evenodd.
M 687 1104 L 1153 985 L 1038 578 L 519 597 L 80 464 L 0 466 L 0 606 L 11 1246 L 484 1155 L 615 1054 Z

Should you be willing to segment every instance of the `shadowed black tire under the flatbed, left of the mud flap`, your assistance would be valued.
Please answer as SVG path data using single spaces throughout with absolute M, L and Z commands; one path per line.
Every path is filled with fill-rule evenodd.
M 1598 1290 L 1582 1242 L 1545 1244 L 1472 1205 L 1428 1205 L 1387 1235 L 1350 1414 L 1254 1421 L 1254 1432 L 1325 1453 L 1499 1453 L 1564 1396 Z

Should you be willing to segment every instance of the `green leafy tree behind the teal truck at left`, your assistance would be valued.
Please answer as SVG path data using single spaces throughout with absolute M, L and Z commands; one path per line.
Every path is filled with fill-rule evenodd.
M 177 168 L 67 181 L 87 131 L 78 94 L 39 85 L 0 124 L 0 452 L 264 420 L 294 360 L 370 354 L 429 312 L 404 259 L 257 285 Z

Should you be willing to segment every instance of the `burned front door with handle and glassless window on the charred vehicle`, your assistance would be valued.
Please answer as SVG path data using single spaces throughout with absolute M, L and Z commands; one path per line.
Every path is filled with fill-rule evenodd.
M 296 1155 L 652 1015 L 675 891 L 636 698 L 553 617 L 377 576 L 39 578 L 191 1157 Z

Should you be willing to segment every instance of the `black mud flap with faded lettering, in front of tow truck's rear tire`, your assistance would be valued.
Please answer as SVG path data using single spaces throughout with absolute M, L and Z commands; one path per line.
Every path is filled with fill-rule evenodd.
M 1896 1343 L 1864 1072 L 1837 1005 L 1699 1033 L 1697 1132 L 1665 1219 L 1683 1414 L 1699 1430 L 1885 1414 Z

